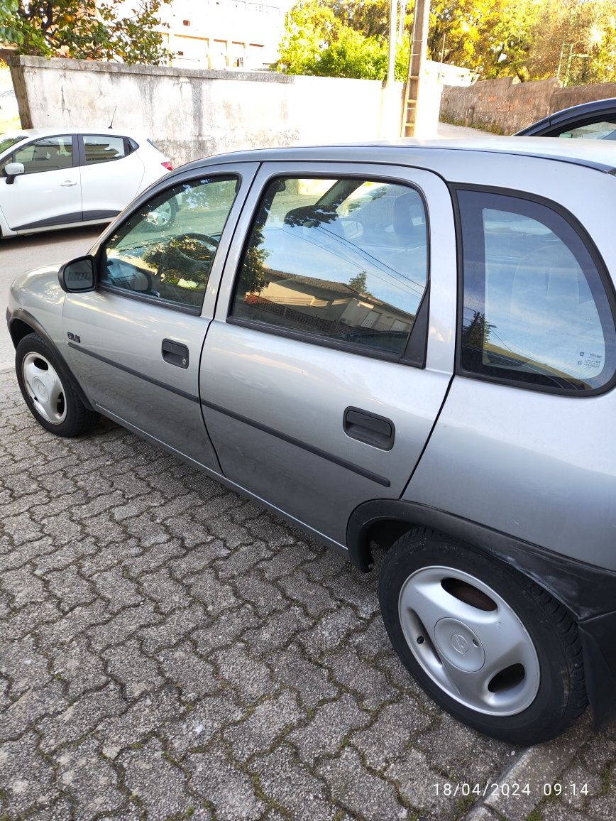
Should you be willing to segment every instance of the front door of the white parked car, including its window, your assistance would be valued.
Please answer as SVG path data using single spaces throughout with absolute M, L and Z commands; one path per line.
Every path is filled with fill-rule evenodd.
M 7 162 L 24 173 L 0 179 L 0 208 L 12 231 L 81 221 L 81 181 L 73 136 L 44 137 L 16 149 Z

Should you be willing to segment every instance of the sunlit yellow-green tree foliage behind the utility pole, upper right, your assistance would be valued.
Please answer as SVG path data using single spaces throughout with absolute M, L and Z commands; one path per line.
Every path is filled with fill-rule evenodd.
M 396 78 L 406 77 L 406 7 Z M 279 71 L 385 79 L 389 0 L 299 0 L 286 17 Z M 614 0 L 431 0 L 428 57 L 482 79 L 616 81 Z

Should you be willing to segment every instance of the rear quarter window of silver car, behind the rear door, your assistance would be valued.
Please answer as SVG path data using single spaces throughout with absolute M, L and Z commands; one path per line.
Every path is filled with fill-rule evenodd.
M 614 317 L 590 241 L 546 204 L 478 190 L 458 200 L 463 372 L 572 392 L 609 383 Z

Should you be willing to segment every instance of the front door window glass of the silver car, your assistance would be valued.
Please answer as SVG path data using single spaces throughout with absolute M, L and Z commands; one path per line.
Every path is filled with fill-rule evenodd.
M 200 308 L 238 187 L 238 177 L 201 177 L 153 197 L 104 245 L 101 284 Z

